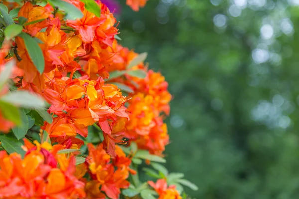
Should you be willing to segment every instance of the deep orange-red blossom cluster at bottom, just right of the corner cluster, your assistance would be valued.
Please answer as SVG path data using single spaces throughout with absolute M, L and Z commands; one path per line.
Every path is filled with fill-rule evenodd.
M 126 179 L 129 177 L 129 172 L 135 173 L 135 171 L 129 168 L 131 160 L 124 156 L 120 148 L 117 146 L 116 148 L 116 160 L 111 162 L 111 157 L 103 150 L 102 144 L 96 148 L 88 144 L 89 155 L 86 160 L 92 178 L 92 181 L 85 186 L 88 199 L 103 198 L 103 193 L 111 199 L 118 199 L 120 189 L 129 187 Z

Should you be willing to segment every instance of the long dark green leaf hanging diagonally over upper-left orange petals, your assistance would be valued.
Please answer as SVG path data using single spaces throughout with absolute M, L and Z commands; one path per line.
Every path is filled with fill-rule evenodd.
M 43 70 L 45 68 L 45 59 L 40 47 L 38 46 L 38 43 L 30 35 L 24 32 L 19 34 L 19 36 L 24 39 L 27 52 L 33 64 L 35 65 L 39 73 L 43 73 Z

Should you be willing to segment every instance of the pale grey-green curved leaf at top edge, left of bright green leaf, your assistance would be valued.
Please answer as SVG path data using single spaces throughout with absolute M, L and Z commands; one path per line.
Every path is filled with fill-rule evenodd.
M 83 13 L 81 12 L 80 9 L 78 9 L 76 6 L 74 6 L 73 4 L 70 4 L 66 1 L 63 0 L 48 0 L 48 2 L 54 6 L 54 7 L 58 7 L 59 9 L 65 11 L 66 19 L 69 20 L 76 20 L 76 19 L 80 19 L 83 17 Z

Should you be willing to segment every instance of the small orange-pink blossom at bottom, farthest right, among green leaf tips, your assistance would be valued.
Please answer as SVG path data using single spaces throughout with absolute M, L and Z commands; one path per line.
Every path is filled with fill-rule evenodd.
M 165 179 L 159 179 L 156 183 L 153 181 L 148 181 L 148 183 L 158 193 L 158 199 L 182 199 L 176 190 L 176 186 L 170 185 L 168 187 Z

